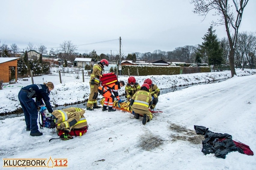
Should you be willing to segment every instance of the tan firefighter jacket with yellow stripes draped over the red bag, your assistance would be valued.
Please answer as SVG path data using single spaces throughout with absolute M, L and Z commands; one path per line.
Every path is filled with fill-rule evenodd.
M 84 117 L 85 110 L 77 107 L 70 107 L 62 110 L 54 110 L 52 115 L 55 116 L 57 129 L 68 130 L 80 129 L 88 126 Z

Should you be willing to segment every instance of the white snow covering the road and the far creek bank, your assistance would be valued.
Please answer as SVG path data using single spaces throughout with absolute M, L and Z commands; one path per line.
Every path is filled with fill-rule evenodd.
M 249 75 L 242 71 L 237 74 Z M 136 79 L 142 84 L 145 78 L 152 78 L 153 83 L 164 89 L 228 76 L 230 71 Z M 120 80 L 127 82 L 127 77 Z M 161 94 L 156 109 L 163 113 L 154 113 L 146 125 L 142 125 L 142 118 L 137 120 L 124 111 L 86 110 L 87 133 L 68 141 L 48 142 L 58 136 L 55 130 L 46 128 L 40 130 L 43 136 L 30 136 L 24 117 L 5 119 L 0 121 L 0 155 L 1 158 L 67 158 L 68 169 L 256 169 L 255 156 L 239 152 L 227 154 L 226 159 L 204 155 L 203 136 L 196 135 L 194 130 L 194 125 L 202 125 L 213 132 L 228 133 L 255 153 L 255 84 L 256 75 L 235 76 L 220 83 Z M 1 113 L 20 107 L 18 91 L 0 90 Z M 88 82 L 59 84 L 52 92 L 52 104 L 83 101 L 89 95 Z M 3 162 L 0 167 L 5 169 L 2 166 Z

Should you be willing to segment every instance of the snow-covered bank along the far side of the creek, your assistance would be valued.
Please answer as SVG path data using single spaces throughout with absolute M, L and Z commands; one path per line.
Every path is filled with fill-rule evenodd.
M 256 73 L 254 69 L 236 70 L 237 76 L 251 75 Z M 231 77 L 230 71 L 210 72 L 210 73 L 195 73 L 182 75 L 149 75 L 135 76 L 136 81 L 142 85 L 146 78 L 151 78 L 154 84 L 157 84 L 159 89 L 166 89 L 176 86 L 185 86 L 190 84 L 205 83 L 217 81 Z M 127 83 L 128 77 L 120 76 L 119 81 L 123 80 Z M 0 90 L 0 114 L 15 113 L 21 111 L 21 106 L 18 100 L 20 89 L 3 89 Z M 88 82 L 70 82 L 65 84 L 57 84 L 50 94 L 50 102 L 52 106 L 63 106 L 69 104 L 83 103 L 88 100 L 90 88 Z M 119 90 L 119 94 L 124 94 L 124 87 Z M 99 95 L 98 98 L 102 96 Z

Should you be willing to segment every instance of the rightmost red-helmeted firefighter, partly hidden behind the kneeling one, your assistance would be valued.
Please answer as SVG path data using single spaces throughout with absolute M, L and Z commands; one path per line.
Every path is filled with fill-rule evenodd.
M 152 96 L 153 104 L 151 105 L 151 111 L 154 111 L 157 103 L 158 103 L 158 96 L 160 95 L 160 90 L 158 89 L 157 85 L 152 83 L 150 78 L 144 80 L 144 83 L 147 83 L 150 87 L 149 92 Z

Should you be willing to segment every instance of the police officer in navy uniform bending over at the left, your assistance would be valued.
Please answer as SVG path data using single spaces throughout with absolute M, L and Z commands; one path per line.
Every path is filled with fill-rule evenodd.
M 49 98 L 50 91 L 53 88 L 53 83 L 48 82 L 44 84 L 31 84 L 20 89 L 18 99 L 24 112 L 26 130 L 30 131 L 31 136 L 43 135 L 43 133 L 39 132 L 37 125 L 38 106 L 42 106 L 45 103 L 48 112 L 53 112 Z M 44 103 L 42 99 L 44 100 Z

